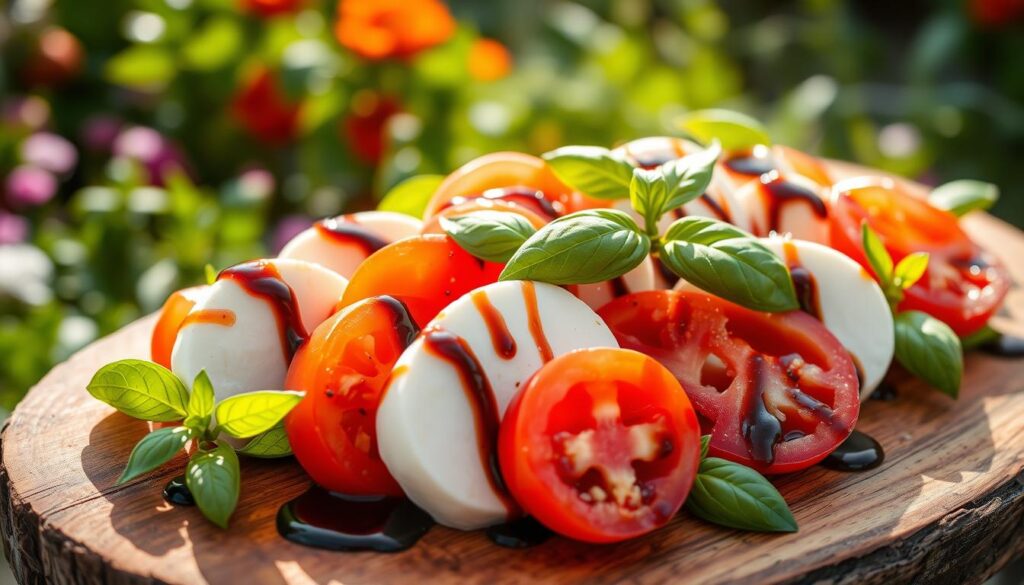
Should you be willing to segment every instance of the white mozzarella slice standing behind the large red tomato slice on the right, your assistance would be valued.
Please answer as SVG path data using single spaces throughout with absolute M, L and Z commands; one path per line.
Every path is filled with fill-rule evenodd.
M 867 400 L 889 370 L 895 350 L 892 312 L 882 289 L 860 264 L 826 246 L 783 238 L 761 241 L 791 270 L 803 266 L 810 275 L 813 285 L 798 286 L 798 296 L 803 294 L 801 288 L 816 296 L 820 315 L 815 317 L 854 357 L 861 377 L 860 400 Z M 680 282 L 676 288 L 692 286 Z

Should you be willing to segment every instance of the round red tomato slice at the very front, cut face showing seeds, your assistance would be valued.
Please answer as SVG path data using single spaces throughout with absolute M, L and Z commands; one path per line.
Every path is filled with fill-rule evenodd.
M 499 463 L 509 492 L 548 528 L 614 542 L 667 524 L 700 460 L 697 418 L 672 373 L 628 349 L 549 362 L 505 412 Z

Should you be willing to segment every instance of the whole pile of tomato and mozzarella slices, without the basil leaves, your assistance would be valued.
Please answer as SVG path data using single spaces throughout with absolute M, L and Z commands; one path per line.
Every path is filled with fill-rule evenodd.
M 618 153 L 650 168 L 696 150 L 645 138 Z M 800 193 L 766 195 L 780 180 Z M 817 315 L 742 308 L 650 258 L 615 282 L 498 282 L 503 266 L 461 249 L 438 221 L 490 210 L 541 227 L 607 206 L 629 210 L 574 193 L 541 159 L 482 157 L 441 183 L 423 220 L 327 220 L 278 258 L 175 293 L 154 360 L 183 380 L 205 370 L 218 399 L 306 392 L 287 430 L 328 490 L 404 495 L 464 530 L 528 513 L 572 538 L 614 541 L 679 510 L 701 433 L 712 455 L 768 474 L 812 465 L 849 435 L 894 346 L 889 304 L 862 267 L 863 221 L 896 260 L 931 252 L 903 303 L 958 334 L 1007 291 L 952 215 L 887 179 L 834 184 L 827 165 L 779 147 L 726 154 L 708 193 L 664 221 L 703 215 L 766 237 L 811 279 Z M 240 271 L 263 281 L 230 278 Z

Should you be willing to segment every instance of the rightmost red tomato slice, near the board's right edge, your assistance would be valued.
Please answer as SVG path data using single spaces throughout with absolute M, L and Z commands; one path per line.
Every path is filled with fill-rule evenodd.
M 923 310 L 966 336 L 981 329 L 1002 303 L 1009 273 L 971 241 L 955 215 L 889 179 L 851 179 L 837 184 L 835 194 L 830 217 L 837 250 L 869 268 L 860 235 L 867 221 L 894 261 L 912 252 L 930 254 L 928 270 L 906 291 L 901 310 Z

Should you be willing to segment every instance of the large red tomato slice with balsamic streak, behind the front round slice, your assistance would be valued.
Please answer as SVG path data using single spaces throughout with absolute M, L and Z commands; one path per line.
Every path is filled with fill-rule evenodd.
M 634 293 L 598 314 L 623 347 L 675 374 L 713 455 L 764 473 L 797 471 L 823 459 L 857 422 L 853 361 L 807 314 L 757 312 L 680 291 Z

